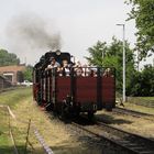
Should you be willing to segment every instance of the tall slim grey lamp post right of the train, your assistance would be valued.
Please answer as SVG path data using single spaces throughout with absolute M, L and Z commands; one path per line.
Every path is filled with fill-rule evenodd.
M 123 28 L 123 102 L 125 102 L 125 24 L 117 24 Z

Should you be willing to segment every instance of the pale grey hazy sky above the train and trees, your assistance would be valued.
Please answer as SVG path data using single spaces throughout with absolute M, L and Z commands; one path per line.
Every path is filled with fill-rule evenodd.
M 0 48 L 15 53 L 22 63 L 34 65 L 41 55 L 52 50 L 38 43 L 48 44 L 44 37 L 52 40 L 55 35 L 61 37 L 63 52 L 86 63 L 87 48 L 98 40 L 110 43 L 113 35 L 122 40 L 122 28 L 116 25 L 119 23 L 125 24 L 125 38 L 132 47 L 135 43 L 135 23 L 125 22 L 131 6 L 124 4 L 124 0 L 0 0 Z M 48 34 L 20 36 L 21 31 L 16 31 L 25 24 L 31 25 L 33 33 L 43 25 Z

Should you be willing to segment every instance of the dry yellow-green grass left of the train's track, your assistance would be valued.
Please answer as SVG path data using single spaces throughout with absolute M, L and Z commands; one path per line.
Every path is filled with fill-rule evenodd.
M 80 138 L 78 139 L 76 135 L 73 135 L 70 130 L 67 128 L 67 124 L 58 122 L 58 120 L 56 120 L 57 118 L 45 113 L 44 110 L 42 111 L 42 108 L 33 102 L 31 88 L 16 89 L 0 94 L 0 105 L 9 105 L 12 112 L 16 117 L 16 120 L 11 118 L 11 127 L 20 154 L 23 154 L 25 151 L 28 122 L 30 119 L 32 124 L 37 128 L 45 143 L 57 154 L 90 154 L 91 151 L 96 151 L 92 146 L 90 148 L 87 145 L 87 142 L 84 142 Z M 0 110 L 2 111 L 1 108 Z M 26 123 L 21 121 L 25 121 Z M 4 132 L 4 128 L 1 125 L 6 125 L 7 131 L 9 131 L 9 124 L 8 122 L 4 122 L 6 121 L 1 121 L 0 123 L 0 129 L 2 132 Z M 34 135 L 32 127 L 30 129 L 29 141 L 33 146 L 33 148 L 30 145 L 28 146 L 29 153 L 44 153 L 42 145 Z M 10 148 L 10 152 L 8 152 L 8 148 Z M 13 153 L 13 144 L 11 142 L 10 135 L 8 134 L 8 136 L 6 135 L 3 139 L 0 136 L 0 154 L 11 154 L 11 152 Z

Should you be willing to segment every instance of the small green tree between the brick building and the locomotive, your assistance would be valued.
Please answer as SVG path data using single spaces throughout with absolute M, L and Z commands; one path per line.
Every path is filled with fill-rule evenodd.
M 33 66 L 28 65 L 23 73 L 24 80 L 32 81 L 32 73 L 33 73 Z

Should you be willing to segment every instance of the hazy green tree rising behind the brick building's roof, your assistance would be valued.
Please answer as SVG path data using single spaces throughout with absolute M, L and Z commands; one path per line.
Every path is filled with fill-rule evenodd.
M 8 53 L 6 50 L 0 50 L 0 66 L 19 65 L 20 59 L 13 53 Z

